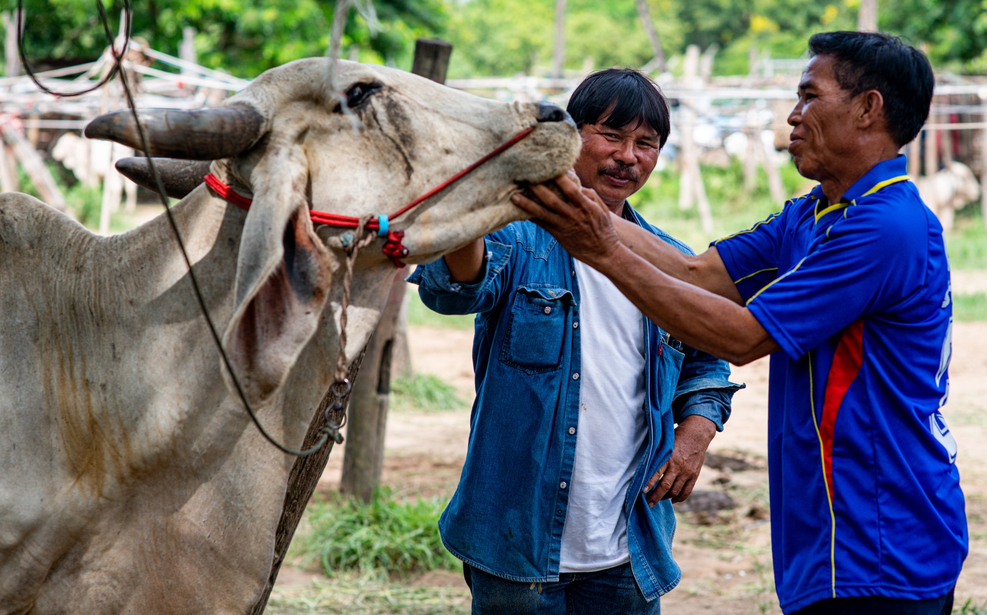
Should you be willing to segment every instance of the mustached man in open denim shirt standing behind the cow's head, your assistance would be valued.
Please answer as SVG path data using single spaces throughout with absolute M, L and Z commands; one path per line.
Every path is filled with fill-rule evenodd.
M 628 69 L 594 73 L 569 114 L 585 190 L 692 254 L 626 202 L 668 137 L 653 82 Z M 439 521 L 464 562 L 473 612 L 658 613 L 657 598 L 681 577 L 671 502 L 689 496 L 729 416 L 738 387 L 727 364 L 671 340 L 531 222 L 409 281 L 437 312 L 477 314 L 469 451 Z

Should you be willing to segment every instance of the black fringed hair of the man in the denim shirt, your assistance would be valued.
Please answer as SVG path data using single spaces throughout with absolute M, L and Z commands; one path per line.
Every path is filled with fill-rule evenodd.
M 599 123 L 623 128 L 634 123 L 637 130 L 646 122 L 658 133 L 658 149 L 671 131 L 668 102 L 651 78 L 633 68 L 607 68 L 582 80 L 569 98 L 566 109 L 575 125 Z

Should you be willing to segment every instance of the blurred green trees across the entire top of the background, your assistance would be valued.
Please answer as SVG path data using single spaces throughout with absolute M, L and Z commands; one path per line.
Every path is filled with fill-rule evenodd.
M 715 74 L 748 72 L 755 54 L 795 58 L 809 35 L 854 29 L 860 0 L 646 0 L 664 53 L 688 44 L 718 45 Z M 0 1 L 12 10 L 15 0 Z M 39 67 L 93 59 L 104 47 L 92 0 L 26 0 L 29 57 Z M 133 33 L 175 52 L 192 27 L 199 61 L 241 77 L 312 55 L 328 46 L 334 2 L 318 0 L 143 0 L 134 3 Z M 955 72 L 987 71 L 987 0 L 879 0 L 881 30 L 908 37 L 933 63 Z M 107 2 L 116 21 L 122 3 Z M 380 31 L 372 36 L 355 12 L 342 55 L 408 67 L 418 37 L 456 48 L 450 77 L 548 74 L 554 0 L 376 0 Z M 652 51 L 636 0 L 569 0 L 566 68 L 640 66 Z M 674 69 L 676 62 L 672 61 Z

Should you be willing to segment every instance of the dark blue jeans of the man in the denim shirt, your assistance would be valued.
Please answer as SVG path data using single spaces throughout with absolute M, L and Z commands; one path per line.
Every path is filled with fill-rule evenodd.
M 463 565 L 473 592 L 473 615 L 660 615 L 648 602 L 631 565 L 594 573 L 563 573 L 555 582 L 530 583 L 494 577 Z

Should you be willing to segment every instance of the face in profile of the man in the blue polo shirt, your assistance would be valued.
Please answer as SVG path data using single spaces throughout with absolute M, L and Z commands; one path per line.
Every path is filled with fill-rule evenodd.
M 816 55 L 805 65 L 798 84 L 798 103 L 789 115 L 798 173 L 823 181 L 838 175 L 853 158 L 857 139 L 856 99 L 840 87 L 833 75 L 833 57 Z

